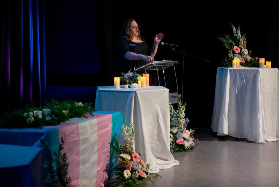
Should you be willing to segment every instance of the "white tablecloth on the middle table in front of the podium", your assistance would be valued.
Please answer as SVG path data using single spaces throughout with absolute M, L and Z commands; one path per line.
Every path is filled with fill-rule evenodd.
M 147 88 L 97 88 L 95 109 L 120 111 L 134 124 L 135 151 L 142 150 L 142 158 L 150 163 L 152 172 L 171 168 L 179 162 L 170 153 L 169 90 L 163 86 Z

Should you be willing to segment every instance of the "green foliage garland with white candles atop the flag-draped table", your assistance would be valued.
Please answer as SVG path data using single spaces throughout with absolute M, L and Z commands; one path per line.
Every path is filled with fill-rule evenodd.
M 2 128 L 42 128 L 43 126 L 58 125 L 73 117 L 86 117 L 95 111 L 91 103 L 76 103 L 74 101 L 56 101 L 52 99 L 44 107 L 27 106 L 0 117 Z

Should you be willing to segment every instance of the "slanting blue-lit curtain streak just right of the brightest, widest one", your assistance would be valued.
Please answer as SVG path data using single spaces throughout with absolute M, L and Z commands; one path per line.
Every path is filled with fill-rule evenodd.
M 38 79 L 39 79 L 39 101 L 40 106 L 42 105 L 41 95 L 41 68 L 40 68 L 40 33 L 39 33 L 39 2 L 36 1 L 36 26 L 37 26 L 37 60 L 38 60 Z

